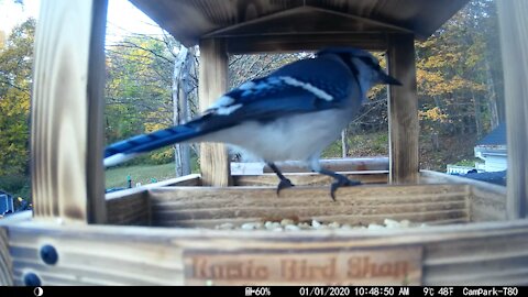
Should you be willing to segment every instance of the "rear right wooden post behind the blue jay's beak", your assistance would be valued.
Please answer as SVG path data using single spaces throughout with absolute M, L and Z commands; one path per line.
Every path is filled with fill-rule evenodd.
M 403 84 L 388 87 L 389 180 L 416 184 L 420 165 L 414 35 L 391 35 L 387 59 L 388 73 Z

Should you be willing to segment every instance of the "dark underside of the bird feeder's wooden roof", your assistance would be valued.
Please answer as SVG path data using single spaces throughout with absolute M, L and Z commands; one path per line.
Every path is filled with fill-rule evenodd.
M 130 0 L 186 46 L 202 37 L 414 33 L 427 38 L 469 0 Z

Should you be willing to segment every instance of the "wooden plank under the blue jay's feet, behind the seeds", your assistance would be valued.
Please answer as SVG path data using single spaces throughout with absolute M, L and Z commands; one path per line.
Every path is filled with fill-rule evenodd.
M 150 200 L 154 226 L 213 228 L 229 221 L 282 219 L 366 226 L 384 219 L 468 221 L 469 194 L 465 185 L 359 186 L 339 189 L 334 202 L 329 187 L 296 187 L 280 197 L 274 187 L 175 187 L 152 189 Z

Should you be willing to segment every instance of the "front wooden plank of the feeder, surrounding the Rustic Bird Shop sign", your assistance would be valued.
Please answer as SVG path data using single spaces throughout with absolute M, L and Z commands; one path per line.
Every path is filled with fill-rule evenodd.
M 186 275 L 191 274 L 184 258 L 189 252 L 205 254 L 207 260 L 208 253 L 286 256 L 296 251 L 332 256 L 409 246 L 422 248 L 422 285 L 524 285 L 527 279 L 526 220 L 305 232 L 61 227 L 34 221 L 8 228 L 14 285 L 23 285 L 29 271 L 34 272 L 43 285 L 183 285 Z M 56 249 L 59 261 L 55 265 L 46 265 L 40 258 L 43 244 Z M 208 284 L 215 285 L 215 280 Z M 243 284 L 256 280 L 250 277 Z

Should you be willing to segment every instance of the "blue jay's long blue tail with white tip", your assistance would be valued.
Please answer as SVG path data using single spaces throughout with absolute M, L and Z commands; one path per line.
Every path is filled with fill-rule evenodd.
M 150 152 L 173 143 L 189 141 L 212 132 L 211 129 L 204 129 L 202 120 L 204 118 L 199 118 L 186 124 L 113 143 L 105 150 L 105 167 L 118 165 L 141 153 Z

